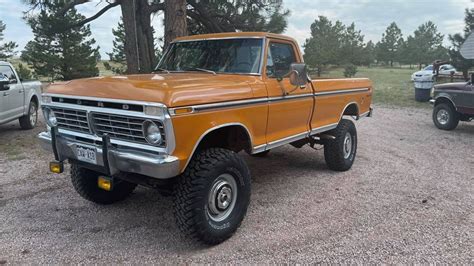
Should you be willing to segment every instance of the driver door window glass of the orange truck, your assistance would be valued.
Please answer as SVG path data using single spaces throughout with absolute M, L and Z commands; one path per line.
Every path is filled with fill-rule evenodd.
M 267 55 L 267 76 L 282 77 L 290 72 L 292 63 L 296 63 L 293 46 L 287 43 L 270 43 Z

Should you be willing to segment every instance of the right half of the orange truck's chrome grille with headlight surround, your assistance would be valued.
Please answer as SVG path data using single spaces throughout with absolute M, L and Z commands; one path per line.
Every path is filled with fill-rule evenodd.
M 114 139 L 142 144 L 148 144 L 143 135 L 143 122 L 145 121 L 146 119 L 139 117 L 92 113 L 92 125 L 98 136 L 102 137 L 104 134 L 108 134 Z M 163 139 L 160 146 L 165 146 L 166 139 L 163 124 L 158 121 L 154 122 L 160 127 L 161 137 Z

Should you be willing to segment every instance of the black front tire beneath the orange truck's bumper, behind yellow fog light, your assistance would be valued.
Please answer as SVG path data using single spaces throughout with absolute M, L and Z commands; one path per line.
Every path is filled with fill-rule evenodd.
M 98 186 L 98 178 L 101 174 L 77 164 L 71 163 L 71 181 L 74 189 L 88 201 L 97 204 L 112 204 L 124 200 L 137 187 L 136 184 L 118 180 L 114 183 L 111 191 L 106 191 Z

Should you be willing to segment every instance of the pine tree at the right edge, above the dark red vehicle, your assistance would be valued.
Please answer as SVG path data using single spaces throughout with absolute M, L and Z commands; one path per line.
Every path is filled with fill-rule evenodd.
M 449 49 L 449 56 L 451 57 L 452 64 L 457 68 L 457 70 L 462 71 L 464 77 L 468 78 L 469 69 L 474 67 L 474 60 L 465 59 L 460 53 L 460 49 L 464 41 L 466 41 L 469 34 L 474 31 L 474 8 L 466 9 L 466 17 L 464 18 L 466 26 L 464 28 L 464 33 L 457 33 L 454 35 L 449 35 L 449 40 L 451 41 L 451 48 Z

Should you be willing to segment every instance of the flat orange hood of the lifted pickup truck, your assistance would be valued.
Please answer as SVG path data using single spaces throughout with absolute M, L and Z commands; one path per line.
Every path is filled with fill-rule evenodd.
M 190 72 L 107 76 L 53 83 L 46 92 L 77 97 L 145 101 L 179 107 L 252 98 L 250 84 L 259 78 Z

